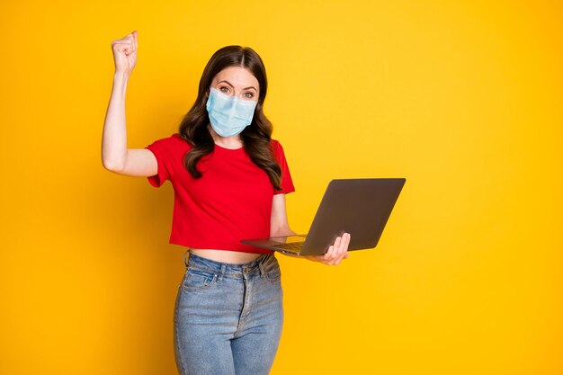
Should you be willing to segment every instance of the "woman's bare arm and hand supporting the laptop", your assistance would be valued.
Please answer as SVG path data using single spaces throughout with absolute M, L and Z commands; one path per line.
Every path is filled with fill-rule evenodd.
M 290 229 L 287 211 L 285 209 L 285 194 L 276 194 L 272 202 L 272 219 L 270 224 L 270 237 L 290 236 L 296 233 Z M 343 259 L 348 259 L 348 245 L 350 244 L 350 234 L 344 233 L 343 237 L 337 237 L 335 244 L 328 248 L 323 255 L 290 255 L 294 258 L 305 258 L 309 261 L 320 262 L 327 265 L 338 265 Z

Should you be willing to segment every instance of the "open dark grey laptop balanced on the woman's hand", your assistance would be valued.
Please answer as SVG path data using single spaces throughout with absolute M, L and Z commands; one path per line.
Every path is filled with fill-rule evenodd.
M 307 235 L 243 239 L 243 244 L 294 255 L 325 254 L 336 237 L 350 233 L 348 250 L 371 249 L 380 241 L 405 178 L 332 180 Z

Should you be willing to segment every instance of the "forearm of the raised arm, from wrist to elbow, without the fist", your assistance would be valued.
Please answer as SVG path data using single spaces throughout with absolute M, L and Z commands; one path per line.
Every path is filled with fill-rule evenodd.
M 103 122 L 102 162 L 109 170 L 120 170 L 127 158 L 125 93 L 128 80 L 128 74 L 114 74 L 112 96 Z

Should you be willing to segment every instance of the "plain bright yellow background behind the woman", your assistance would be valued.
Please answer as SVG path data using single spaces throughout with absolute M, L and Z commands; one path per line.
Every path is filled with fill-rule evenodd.
M 306 232 L 332 178 L 406 177 L 376 250 L 278 256 L 272 374 L 562 374 L 560 1 L 0 5 L 0 373 L 174 374 L 174 192 L 103 169 L 112 40 L 139 31 L 130 147 L 211 54 L 264 58 Z

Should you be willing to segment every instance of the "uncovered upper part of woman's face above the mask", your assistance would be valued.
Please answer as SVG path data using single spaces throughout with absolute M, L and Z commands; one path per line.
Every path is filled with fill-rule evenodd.
M 224 68 L 213 78 L 211 87 L 223 94 L 250 101 L 257 101 L 260 93 L 258 80 L 245 67 Z

